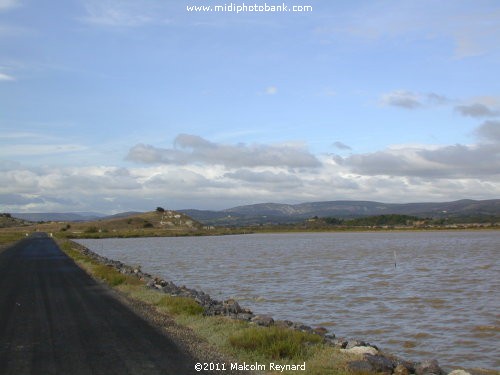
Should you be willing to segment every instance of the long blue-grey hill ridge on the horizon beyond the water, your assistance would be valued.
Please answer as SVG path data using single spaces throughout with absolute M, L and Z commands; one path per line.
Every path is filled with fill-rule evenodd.
M 253 225 L 296 223 L 311 217 L 359 217 L 399 214 L 421 218 L 500 217 L 500 199 L 464 199 L 440 203 L 381 203 L 372 201 L 327 201 L 301 204 L 261 203 L 238 206 L 222 211 L 180 210 L 193 219 L 209 225 Z

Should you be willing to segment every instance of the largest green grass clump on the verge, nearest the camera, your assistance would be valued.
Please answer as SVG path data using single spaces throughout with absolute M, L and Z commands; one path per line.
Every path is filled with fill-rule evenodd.
M 230 344 L 273 359 L 303 358 L 307 343 L 319 343 L 321 336 L 280 327 L 252 327 L 229 337 Z

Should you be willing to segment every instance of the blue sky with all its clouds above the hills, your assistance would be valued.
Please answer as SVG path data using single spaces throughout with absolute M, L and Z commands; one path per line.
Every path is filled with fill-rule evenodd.
M 259 1 L 0 0 L 0 212 L 500 198 L 498 0 Z

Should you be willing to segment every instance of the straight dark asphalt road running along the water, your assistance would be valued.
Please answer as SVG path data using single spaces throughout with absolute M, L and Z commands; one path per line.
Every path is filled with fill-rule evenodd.
M 196 361 L 43 234 L 0 253 L 0 374 L 195 374 Z

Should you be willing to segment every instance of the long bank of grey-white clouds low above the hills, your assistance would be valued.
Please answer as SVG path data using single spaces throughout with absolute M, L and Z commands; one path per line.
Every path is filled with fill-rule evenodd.
M 476 142 L 467 145 L 340 156 L 313 155 L 297 144 L 222 144 L 180 134 L 171 148 L 133 146 L 126 167 L 0 162 L 0 205 L 10 212 L 120 212 L 158 205 L 222 209 L 258 202 L 498 198 L 500 121 L 484 121 L 474 136 Z

